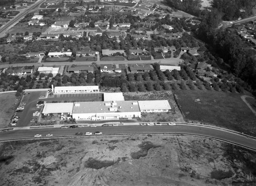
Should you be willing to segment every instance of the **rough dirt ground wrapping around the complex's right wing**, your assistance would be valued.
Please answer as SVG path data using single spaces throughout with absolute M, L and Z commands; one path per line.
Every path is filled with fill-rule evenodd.
M 142 113 L 139 121 L 179 121 L 184 122 L 183 116 L 177 107 L 172 91 L 154 92 L 125 92 L 124 100 L 163 100 L 167 99 L 172 111 L 169 113 Z

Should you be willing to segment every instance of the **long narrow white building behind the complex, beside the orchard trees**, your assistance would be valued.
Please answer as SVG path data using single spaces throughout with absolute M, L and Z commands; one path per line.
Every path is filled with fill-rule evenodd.
M 54 87 L 55 94 L 99 92 L 99 86 Z

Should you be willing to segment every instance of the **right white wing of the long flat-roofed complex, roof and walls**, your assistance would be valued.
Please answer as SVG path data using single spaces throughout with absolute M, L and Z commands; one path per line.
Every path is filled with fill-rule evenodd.
M 155 112 L 170 112 L 170 104 L 168 100 L 150 100 L 138 101 L 140 112 L 155 113 Z

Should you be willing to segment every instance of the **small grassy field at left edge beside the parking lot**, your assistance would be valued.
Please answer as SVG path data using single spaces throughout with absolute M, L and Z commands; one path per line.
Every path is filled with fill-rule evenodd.
M 16 109 L 16 104 L 15 92 L 0 94 L 0 128 L 8 126 L 14 110 Z

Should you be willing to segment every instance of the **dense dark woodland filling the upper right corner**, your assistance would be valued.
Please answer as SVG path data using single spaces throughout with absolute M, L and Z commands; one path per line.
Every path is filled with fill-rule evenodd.
M 237 33 L 216 29 L 222 20 L 235 20 L 251 14 L 256 0 L 214 0 L 212 10 L 200 10 L 199 2 L 193 0 L 166 0 L 166 3 L 179 10 L 199 16 L 202 22 L 194 28 L 195 36 L 207 44 L 207 48 L 219 59 L 218 65 L 231 70 L 253 89 L 256 89 L 255 51 L 250 50 Z M 193 10 L 194 7 L 194 10 Z M 240 11 L 242 10 L 242 11 Z M 244 11 L 243 11 L 244 10 Z M 197 11 L 197 12 L 195 12 Z

